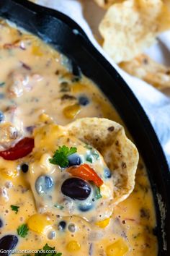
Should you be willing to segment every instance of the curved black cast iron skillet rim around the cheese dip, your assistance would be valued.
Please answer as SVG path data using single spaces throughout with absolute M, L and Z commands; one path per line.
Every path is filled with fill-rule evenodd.
M 39 7 L 26 0 L 0 0 L 0 16 L 38 35 L 68 56 L 73 64 L 73 72 L 79 74 L 80 68 L 115 106 L 148 169 L 156 206 L 157 227 L 154 232 L 158 236 L 158 255 L 170 255 L 169 166 L 146 113 L 128 85 L 94 48 L 81 27 L 61 12 Z

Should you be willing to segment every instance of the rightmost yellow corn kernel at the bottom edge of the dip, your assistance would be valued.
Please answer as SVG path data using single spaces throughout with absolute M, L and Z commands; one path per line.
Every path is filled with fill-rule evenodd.
M 124 256 L 128 252 L 128 246 L 122 239 L 117 240 L 115 243 L 107 247 L 107 256 Z

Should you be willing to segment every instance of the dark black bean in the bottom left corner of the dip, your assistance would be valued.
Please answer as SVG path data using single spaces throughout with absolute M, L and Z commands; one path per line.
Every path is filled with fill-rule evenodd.
M 18 242 L 18 238 L 17 236 L 13 236 L 13 235 L 8 235 L 8 236 L 3 236 L 0 239 L 0 252 L 1 250 L 12 250 L 14 249 L 14 247 L 16 247 Z M 10 254 L 9 253 L 2 253 L 3 256 L 8 256 Z

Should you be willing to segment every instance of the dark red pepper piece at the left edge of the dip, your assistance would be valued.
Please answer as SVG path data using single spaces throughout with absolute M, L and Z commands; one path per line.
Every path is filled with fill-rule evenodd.
M 30 154 L 35 146 L 34 139 L 25 137 L 17 142 L 13 148 L 9 148 L 4 151 L 0 151 L 0 156 L 5 160 L 17 160 Z

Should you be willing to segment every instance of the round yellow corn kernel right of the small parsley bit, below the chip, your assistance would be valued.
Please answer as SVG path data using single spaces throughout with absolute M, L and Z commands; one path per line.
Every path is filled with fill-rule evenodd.
M 45 232 L 50 228 L 50 225 L 51 222 L 48 217 L 42 214 L 32 215 L 27 221 L 29 229 L 39 234 L 45 234 Z

